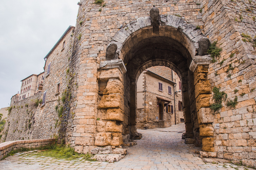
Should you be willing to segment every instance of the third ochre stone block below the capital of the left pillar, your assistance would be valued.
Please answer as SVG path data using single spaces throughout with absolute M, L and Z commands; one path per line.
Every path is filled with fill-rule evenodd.
M 103 95 L 99 104 L 99 109 L 108 109 L 108 108 L 120 108 L 124 109 L 124 98 L 120 94 L 109 94 Z

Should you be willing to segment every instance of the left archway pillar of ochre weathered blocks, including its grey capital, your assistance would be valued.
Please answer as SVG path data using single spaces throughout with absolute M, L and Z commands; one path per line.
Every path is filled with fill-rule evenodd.
M 126 68 L 121 59 L 100 62 L 101 72 L 98 79 L 107 81 L 98 109 L 101 119 L 96 120 L 96 146 L 119 146 L 123 144 L 124 121 L 124 84 Z

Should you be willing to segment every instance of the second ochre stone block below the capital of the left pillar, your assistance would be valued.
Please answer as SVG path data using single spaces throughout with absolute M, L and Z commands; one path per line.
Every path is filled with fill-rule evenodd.
M 124 94 L 124 85 L 119 80 L 108 81 L 106 88 L 103 90 L 103 95 L 111 94 L 111 93 L 119 93 L 121 95 Z

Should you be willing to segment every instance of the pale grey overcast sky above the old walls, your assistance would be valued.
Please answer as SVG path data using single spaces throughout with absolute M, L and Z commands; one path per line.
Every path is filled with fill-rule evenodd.
M 75 26 L 77 2 L 0 0 L 0 108 L 10 106 L 20 80 L 44 71 L 44 57 Z

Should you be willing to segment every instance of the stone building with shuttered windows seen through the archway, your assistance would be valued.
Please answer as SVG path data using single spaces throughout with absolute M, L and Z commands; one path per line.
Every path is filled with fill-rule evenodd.
M 184 122 L 182 95 L 176 90 L 175 83 L 181 84 L 181 82 L 179 76 L 175 74 L 168 67 L 154 66 L 139 76 L 137 128 L 169 127 L 180 123 L 181 120 Z

